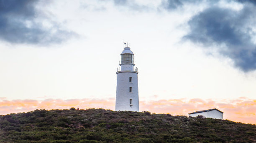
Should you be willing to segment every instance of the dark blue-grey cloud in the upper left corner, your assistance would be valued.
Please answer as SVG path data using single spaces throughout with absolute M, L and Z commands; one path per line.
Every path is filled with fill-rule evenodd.
M 10 43 L 52 44 L 60 43 L 73 32 L 60 30 L 56 22 L 47 20 L 45 28 L 36 21 L 43 12 L 36 10 L 38 0 L 0 0 L 0 39 Z

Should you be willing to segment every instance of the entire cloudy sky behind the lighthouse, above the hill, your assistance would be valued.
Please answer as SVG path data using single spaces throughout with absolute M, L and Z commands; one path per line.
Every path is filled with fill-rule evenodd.
M 0 0 L 0 114 L 115 109 L 123 41 L 140 111 L 256 123 L 253 0 Z

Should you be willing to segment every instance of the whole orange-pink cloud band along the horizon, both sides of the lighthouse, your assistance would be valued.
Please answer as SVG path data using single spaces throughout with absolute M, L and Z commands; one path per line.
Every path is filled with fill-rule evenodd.
M 115 98 L 109 99 L 45 99 L 39 100 L 11 100 L 0 99 L 0 114 L 33 111 L 35 109 L 69 109 L 71 107 L 115 109 Z M 223 118 L 242 123 L 256 123 L 256 100 L 246 97 L 238 99 L 167 99 L 158 101 L 140 101 L 140 111 L 152 113 L 170 113 L 185 115 L 194 111 L 218 108 L 223 111 Z

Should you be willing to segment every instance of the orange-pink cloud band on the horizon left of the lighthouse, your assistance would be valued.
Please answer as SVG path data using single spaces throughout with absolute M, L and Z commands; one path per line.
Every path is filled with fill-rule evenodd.
M 44 99 L 39 100 L 4 100 L 0 99 L 0 114 L 28 112 L 36 109 L 108 108 L 115 109 L 115 100 L 102 99 Z

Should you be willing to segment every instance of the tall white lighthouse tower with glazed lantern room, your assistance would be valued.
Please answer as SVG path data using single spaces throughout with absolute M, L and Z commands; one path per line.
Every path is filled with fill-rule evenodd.
M 115 111 L 139 111 L 138 69 L 134 68 L 134 54 L 125 47 L 121 55 L 121 66 L 117 69 Z

